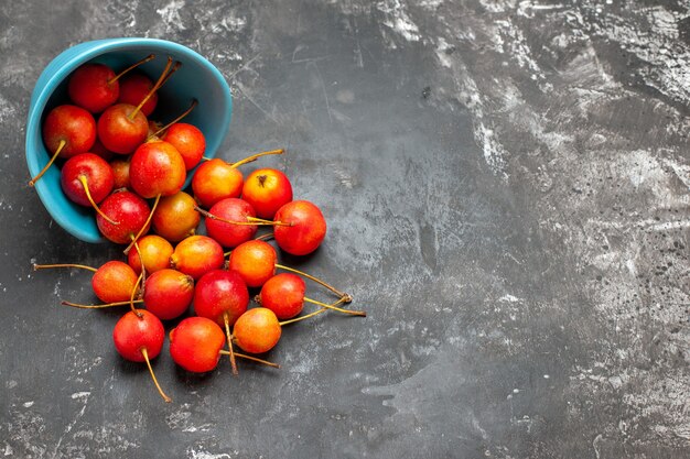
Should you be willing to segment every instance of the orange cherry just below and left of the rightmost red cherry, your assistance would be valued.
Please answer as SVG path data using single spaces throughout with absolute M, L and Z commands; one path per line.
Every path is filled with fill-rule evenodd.
M 237 271 L 250 287 L 260 287 L 276 273 L 276 249 L 260 240 L 242 242 L 230 252 L 228 269 Z

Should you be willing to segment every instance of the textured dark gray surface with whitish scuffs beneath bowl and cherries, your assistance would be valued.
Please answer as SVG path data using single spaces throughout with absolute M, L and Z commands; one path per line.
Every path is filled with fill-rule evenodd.
M 66 2 L 65 2 L 66 3 Z M 230 4 L 231 3 L 231 4 Z M 0 456 L 687 458 L 687 2 L 0 6 Z M 366 319 L 285 330 L 280 371 L 148 373 L 88 314 L 25 185 L 41 69 L 105 36 L 186 44 L 235 95 L 222 155 L 285 146 L 324 209 L 300 265 Z M 250 171 L 248 167 L 247 171 Z

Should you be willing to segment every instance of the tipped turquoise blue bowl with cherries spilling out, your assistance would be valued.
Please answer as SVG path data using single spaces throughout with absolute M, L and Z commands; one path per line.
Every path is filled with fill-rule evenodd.
M 182 67 L 159 91 L 159 103 L 151 119 L 169 122 L 188 108 L 192 99 L 198 106 L 184 122 L 196 125 L 206 138 L 207 157 L 216 155 L 230 124 L 233 99 L 227 81 L 213 64 L 198 53 L 164 40 L 107 39 L 80 43 L 57 55 L 43 70 L 31 95 L 26 127 L 26 164 L 33 177 L 48 162 L 51 154 L 42 139 L 45 116 L 54 107 L 69 103 L 67 79 L 72 72 L 86 62 L 111 66 L 116 72 L 155 54 L 155 58 L 140 69 L 157 79 L 163 72 L 168 56 Z M 190 184 L 193 172 L 187 173 Z M 86 242 L 104 242 L 91 208 L 72 203 L 60 185 L 60 170 L 51 167 L 35 184 L 39 197 L 53 219 L 74 237 Z

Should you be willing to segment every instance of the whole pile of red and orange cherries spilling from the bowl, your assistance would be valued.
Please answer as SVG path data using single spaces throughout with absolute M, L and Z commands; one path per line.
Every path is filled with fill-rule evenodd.
M 159 393 L 170 402 L 150 360 L 163 347 L 161 320 L 185 315 L 191 305 L 195 316 L 182 319 L 169 334 L 172 359 L 187 371 L 207 372 L 227 354 L 235 374 L 237 358 L 279 368 L 256 354 L 272 349 L 288 324 L 326 310 L 366 313 L 344 309 L 341 306 L 352 302 L 348 294 L 279 264 L 276 249 L 267 242 L 274 239 L 282 251 L 305 255 L 319 248 L 326 233 L 319 207 L 293 200 L 292 186 L 282 172 L 260 168 L 245 179 L 238 170 L 262 155 L 282 154 L 282 150 L 236 163 L 204 157 L 203 133 L 181 122 L 197 105 L 195 100 L 165 125 L 148 119 L 159 89 L 181 65 L 169 57 L 153 81 L 134 70 L 152 58 L 150 55 L 117 75 L 95 63 L 84 64 L 71 75 L 71 103 L 52 109 L 43 124 L 43 140 L 53 156 L 30 185 L 58 157 L 66 160 L 61 168 L 65 195 L 95 209 L 105 238 L 127 244 L 127 262 L 112 260 L 98 269 L 72 263 L 34 264 L 34 269 L 94 272 L 91 286 L 103 304 L 64 305 L 89 309 L 129 306 L 115 326 L 115 348 L 127 360 L 145 362 Z M 192 196 L 182 188 L 194 168 Z M 206 234 L 196 233 L 202 217 Z M 256 237 L 260 226 L 273 230 Z M 155 234 L 148 234 L 150 229 Z M 276 274 L 277 270 L 283 272 Z M 327 288 L 337 299 L 326 304 L 306 297 L 303 278 Z M 251 308 L 250 288 L 258 292 L 255 300 L 259 305 Z M 300 315 L 304 303 L 319 308 Z M 235 351 L 234 346 L 247 353 Z

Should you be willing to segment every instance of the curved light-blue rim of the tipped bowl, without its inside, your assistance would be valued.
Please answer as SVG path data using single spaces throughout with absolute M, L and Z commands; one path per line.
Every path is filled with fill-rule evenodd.
M 37 174 L 43 167 L 40 165 L 40 161 L 37 157 L 39 155 L 31 153 L 31 151 L 33 150 L 33 142 L 31 138 L 34 135 L 36 130 L 37 132 L 41 132 L 40 123 L 43 111 L 45 110 L 47 101 L 50 100 L 57 86 L 60 86 L 60 84 L 62 84 L 65 78 L 67 78 L 69 74 L 72 74 L 72 72 L 74 72 L 74 69 L 77 68 L 79 65 L 89 62 L 103 54 L 123 51 L 132 46 L 157 46 L 168 52 L 175 53 L 180 56 L 184 56 L 190 61 L 197 62 L 201 66 L 208 69 L 213 77 L 218 81 L 222 91 L 228 102 L 228 110 L 224 112 L 224 118 L 220 119 L 220 129 L 218 131 L 224 132 L 224 134 L 217 140 L 217 144 L 211 145 L 211 151 L 207 150 L 204 154 L 207 157 L 216 156 L 218 147 L 227 135 L 233 112 L 233 99 L 230 88 L 220 70 L 218 70 L 218 68 L 211 61 L 208 61 L 196 51 L 180 43 L 171 42 L 168 40 L 148 37 L 103 39 L 82 42 L 62 51 L 44 67 L 43 72 L 39 76 L 34 86 L 34 92 L 31 97 L 29 113 L 26 116 L 26 131 L 24 141 L 24 155 L 31 176 Z M 46 70 L 48 70 L 50 67 L 57 63 L 61 58 L 64 58 L 65 61 L 60 62 L 60 67 L 57 67 L 57 69 L 53 72 L 52 75 L 50 75 L 48 78 L 43 83 L 42 79 L 44 78 L 44 74 L 46 73 Z M 43 86 L 39 88 L 39 84 L 42 84 Z M 36 89 L 39 89 L 37 94 L 35 92 Z M 45 207 L 53 220 L 55 220 L 55 222 L 57 222 L 57 225 L 60 225 L 68 233 L 86 242 L 106 241 L 106 239 L 100 233 L 97 237 L 94 237 L 90 231 L 84 231 L 76 221 L 67 218 L 65 212 L 62 211 L 62 206 L 56 205 L 55 200 L 52 198 L 48 185 L 45 182 L 39 181 L 34 185 L 34 188 L 39 194 L 39 198 L 43 203 L 43 207 Z

